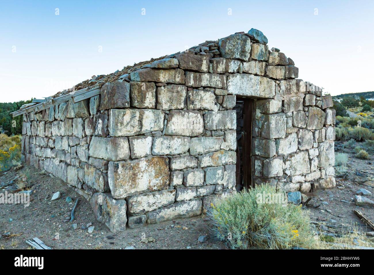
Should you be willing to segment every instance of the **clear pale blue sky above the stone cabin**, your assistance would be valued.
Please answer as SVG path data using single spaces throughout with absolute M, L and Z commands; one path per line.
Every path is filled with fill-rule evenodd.
M 373 14 L 374 1 L 3 0 L 0 102 L 47 97 L 251 28 L 326 92 L 374 91 Z

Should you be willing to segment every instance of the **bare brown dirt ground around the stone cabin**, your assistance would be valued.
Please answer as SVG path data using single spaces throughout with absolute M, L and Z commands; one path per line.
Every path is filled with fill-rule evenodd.
M 348 153 L 346 178 L 336 175 L 337 187 L 330 190 L 318 190 L 308 194 L 310 217 L 312 221 L 326 224 L 330 232 L 349 229 L 357 223 L 360 230 L 373 231 L 367 228 L 354 213 L 358 209 L 370 220 L 374 221 L 374 208 L 362 208 L 355 205 L 352 199 L 356 190 L 365 188 L 374 193 L 373 156 L 370 160 L 354 157 L 353 149 L 343 149 L 336 143 L 337 152 Z M 356 171 L 359 171 L 357 175 Z M 33 193 L 30 205 L 0 204 L 0 234 L 20 234 L 19 236 L 4 236 L 0 240 L 1 249 L 30 249 L 25 240 L 34 237 L 42 240 L 53 249 L 220 249 L 222 244 L 209 239 L 200 243 L 199 236 L 209 235 L 208 222 L 204 216 L 191 219 L 178 219 L 160 224 L 151 224 L 141 229 L 126 229 L 124 232 L 111 233 L 107 227 L 96 221 L 89 203 L 73 188 L 63 181 L 52 178 L 47 174 L 28 166 L 17 171 L 10 170 L 0 174 L 0 192 L 4 187 L 9 188 L 24 174 L 29 174 L 28 183 Z M 13 182 L 12 182 L 13 181 Z M 61 192 L 61 198 L 51 201 L 55 192 Z M 70 197 L 72 202 L 66 202 Z M 71 209 L 79 199 L 74 221 L 65 221 L 70 217 Z M 373 199 L 373 196 L 371 196 Z M 319 205 L 319 206 L 318 206 Z M 72 224 L 77 224 L 73 229 Z M 88 233 L 87 224 L 92 223 L 95 229 Z M 141 240 L 149 238 L 144 243 Z

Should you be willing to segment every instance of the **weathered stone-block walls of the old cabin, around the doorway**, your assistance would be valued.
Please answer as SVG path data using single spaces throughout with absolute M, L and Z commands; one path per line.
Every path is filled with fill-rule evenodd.
M 256 184 L 335 186 L 330 96 L 257 30 L 207 41 L 24 115 L 22 154 L 92 204 L 110 230 L 197 216 L 235 191 L 236 99 L 255 98 Z

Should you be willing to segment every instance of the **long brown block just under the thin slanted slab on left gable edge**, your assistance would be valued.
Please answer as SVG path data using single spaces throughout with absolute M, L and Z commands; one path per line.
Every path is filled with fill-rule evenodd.
M 131 81 L 184 84 L 184 71 L 181 69 L 146 68 L 130 73 Z

